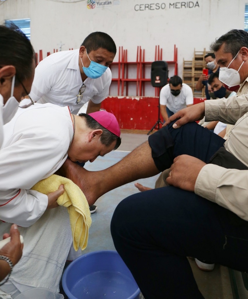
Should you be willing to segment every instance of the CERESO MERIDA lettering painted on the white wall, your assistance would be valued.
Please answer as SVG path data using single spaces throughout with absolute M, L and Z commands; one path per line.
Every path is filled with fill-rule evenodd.
M 135 11 L 153 11 L 164 9 L 183 9 L 183 8 L 195 8 L 200 7 L 198 1 L 182 1 L 182 2 L 162 2 L 162 3 L 144 3 L 136 4 L 134 6 Z

